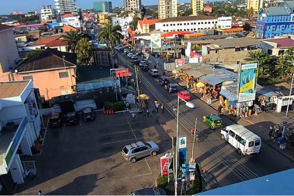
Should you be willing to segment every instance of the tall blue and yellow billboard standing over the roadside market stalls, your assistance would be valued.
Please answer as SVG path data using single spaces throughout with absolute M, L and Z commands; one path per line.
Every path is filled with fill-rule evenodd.
M 258 62 L 239 64 L 237 100 L 238 102 L 255 100 L 258 75 Z

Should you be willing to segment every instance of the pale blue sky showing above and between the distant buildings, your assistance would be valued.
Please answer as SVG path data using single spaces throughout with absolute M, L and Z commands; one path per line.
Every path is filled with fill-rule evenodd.
M 82 9 L 93 8 L 93 2 L 96 0 L 76 0 L 76 5 Z M 112 1 L 113 7 L 123 6 L 123 0 Z M 190 2 L 190 0 L 178 0 L 178 3 Z M 155 5 L 157 0 L 142 0 L 143 5 Z M 26 13 L 27 10 L 38 10 L 40 12 L 42 5 L 52 5 L 55 7 L 54 0 L 0 0 L 0 15 L 10 14 L 13 11 Z

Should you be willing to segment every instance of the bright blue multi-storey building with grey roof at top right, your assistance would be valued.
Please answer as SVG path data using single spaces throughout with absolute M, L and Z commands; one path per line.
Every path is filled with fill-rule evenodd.
M 279 7 L 265 7 L 258 13 L 257 39 L 294 34 L 294 1 L 284 1 Z

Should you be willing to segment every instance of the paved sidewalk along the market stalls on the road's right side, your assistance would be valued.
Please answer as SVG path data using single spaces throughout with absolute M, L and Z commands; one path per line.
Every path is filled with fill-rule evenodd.
M 179 79 L 174 79 L 174 78 L 170 77 L 170 80 L 173 80 L 174 83 L 179 84 L 183 88 L 186 87 L 186 83 L 181 82 Z M 207 101 L 206 98 L 199 95 L 198 92 L 191 91 L 190 93 L 193 94 L 194 96 L 196 96 L 197 98 L 201 99 L 204 103 L 206 103 L 206 101 Z M 212 108 L 214 108 L 216 110 L 216 114 L 217 114 L 217 108 L 218 108 L 219 104 L 220 104 L 220 102 L 219 102 L 219 100 L 217 100 L 217 101 L 212 101 L 212 104 L 210 105 Z M 231 115 L 228 115 L 227 113 L 228 113 L 228 110 L 225 110 L 223 117 L 226 117 L 227 119 L 233 121 L 234 123 L 238 123 L 243 126 L 246 126 L 253 133 L 255 133 L 259 137 L 261 137 L 261 140 L 263 142 L 267 143 L 270 147 L 279 151 L 281 154 L 283 154 L 287 158 L 294 161 L 294 147 L 292 147 L 291 145 L 289 145 L 286 142 L 286 148 L 282 150 L 282 149 L 280 149 L 278 142 L 275 141 L 275 143 L 273 143 L 273 141 L 269 137 L 270 125 L 280 124 L 280 126 L 281 126 L 281 124 L 283 123 L 283 119 L 285 118 L 285 114 L 278 113 L 278 112 L 270 112 L 270 113 L 262 112 L 259 115 L 253 114 L 250 117 L 237 118 L 237 117 L 233 117 Z M 222 119 L 223 119 L 223 117 L 222 117 Z M 289 120 L 288 120 L 287 127 L 294 124 L 294 113 L 292 111 L 288 112 L 288 117 L 289 117 Z

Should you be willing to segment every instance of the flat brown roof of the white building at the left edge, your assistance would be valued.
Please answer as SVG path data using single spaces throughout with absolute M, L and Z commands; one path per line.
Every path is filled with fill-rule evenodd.
M 25 90 L 29 80 L 0 82 L 0 98 L 18 97 Z

